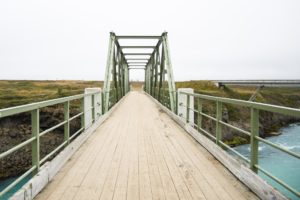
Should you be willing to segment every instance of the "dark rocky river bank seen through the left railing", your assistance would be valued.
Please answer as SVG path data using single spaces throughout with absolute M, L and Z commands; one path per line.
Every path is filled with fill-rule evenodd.
M 71 110 L 71 116 L 78 113 Z M 40 112 L 40 132 L 63 121 L 63 110 L 47 108 Z M 70 122 L 71 134 L 80 128 L 80 118 Z M 43 158 L 59 146 L 64 138 L 63 126 L 59 127 L 40 138 L 40 157 Z M 31 137 L 30 113 L 23 113 L 12 117 L 0 119 L 0 152 L 26 141 Z M 31 167 L 31 145 L 17 150 L 0 160 L 0 180 L 18 176 Z

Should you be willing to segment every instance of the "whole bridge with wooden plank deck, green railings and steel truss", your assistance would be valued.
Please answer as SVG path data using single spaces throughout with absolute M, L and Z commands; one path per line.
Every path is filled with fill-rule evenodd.
M 121 45 L 122 40 L 155 45 Z M 143 90 L 130 89 L 129 73 L 135 69 L 145 71 Z M 78 100 L 81 111 L 70 116 L 70 102 Z M 214 103 L 215 115 L 204 112 L 205 101 Z M 40 131 L 40 109 L 58 104 L 64 120 Z M 225 104 L 251 111 L 250 131 L 223 120 Z M 31 113 L 32 127 L 31 138 L 0 153 L 1 160 L 31 145 L 32 166 L 0 198 L 29 177 L 11 199 L 287 199 L 258 172 L 300 197 L 298 189 L 259 164 L 259 143 L 300 159 L 259 136 L 261 111 L 300 117 L 299 109 L 176 90 L 167 33 L 111 33 L 103 90 L 87 88 L 84 94 L 0 110 L 0 118 Z M 76 118 L 81 128 L 70 133 Z M 215 130 L 206 130 L 203 118 L 213 120 Z M 64 141 L 41 158 L 40 138 L 59 127 Z M 251 138 L 249 158 L 224 143 L 223 127 Z

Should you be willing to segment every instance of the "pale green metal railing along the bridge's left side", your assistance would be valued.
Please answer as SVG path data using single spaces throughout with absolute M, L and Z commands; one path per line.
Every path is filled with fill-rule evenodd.
M 24 112 L 31 112 L 31 132 L 32 136 L 14 146 L 13 148 L 10 148 L 9 150 L 0 153 L 0 160 L 11 155 L 15 151 L 21 149 L 22 147 L 31 144 L 31 151 L 32 151 L 32 166 L 29 170 L 27 170 L 23 175 L 18 177 L 15 181 L 13 181 L 10 185 L 8 185 L 4 190 L 0 191 L 0 199 L 1 197 L 6 194 L 8 191 L 10 191 L 12 188 L 14 188 L 19 182 L 21 182 L 24 178 L 29 176 L 30 174 L 35 175 L 38 173 L 40 166 L 42 166 L 47 160 L 49 160 L 54 154 L 58 153 L 60 150 L 62 150 L 64 147 L 68 146 L 70 142 L 78 136 L 80 133 L 82 133 L 85 128 L 88 125 L 84 124 L 84 115 L 86 112 L 91 111 L 92 112 L 92 124 L 96 121 L 96 112 L 95 112 L 95 95 L 100 94 L 101 92 L 91 92 L 87 94 L 79 94 L 75 96 L 69 96 L 65 98 L 59 98 L 59 99 L 53 99 L 49 101 L 43 101 L 38 103 L 32 103 L 12 108 L 6 108 L 0 110 L 0 118 L 8 117 Z M 91 107 L 90 108 L 84 108 L 84 99 L 87 96 L 91 96 Z M 81 106 L 80 106 L 80 113 L 76 114 L 75 116 L 70 117 L 70 102 L 74 100 L 80 100 Z M 114 100 L 111 105 L 114 105 L 117 102 L 117 100 Z M 53 126 L 49 127 L 47 130 L 44 130 L 40 132 L 40 109 L 47 107 L 47 106 L 53 106 L 57 104 L 63 104 L 64 105 L 64 121 Z M 98 106 L 102 106 L 99 105 Z M 102 108 L 101 108 L 102 109 Z M 99 113 L 97 113 L 99 114 Z M 70 122 L 76 118 L 81 118 L 81 127 L 79 130 L 77 130 L 73 135 L 70 136 Z M 100 117 L 100 116 L 98 116 Z M 62 144 L 60 144 L 58 147 L 56 147 L 52 152 L 47 154 L 44 158 L 40 158 L 40 137 L 43 135 L 53 131 L 54 129 L 57 129 L 59 127 L 64 127 L 64 141 Z

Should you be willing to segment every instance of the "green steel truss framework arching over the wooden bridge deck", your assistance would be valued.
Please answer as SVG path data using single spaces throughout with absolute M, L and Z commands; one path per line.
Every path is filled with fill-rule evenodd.
M 124 45 L 119 40 L 153 40 L 155 45 Z M 133 49 L 134 52 L 124 52 Z M 145 52 L 149 50 L 151 52 Z M 110 33 L 104 81 L 104 111 L 129 91 L 129 70 L 145 70 L 144 90 L 173 112 L 176 111 L 176 88 L 167 32 L 160 36 L 117 36 Z

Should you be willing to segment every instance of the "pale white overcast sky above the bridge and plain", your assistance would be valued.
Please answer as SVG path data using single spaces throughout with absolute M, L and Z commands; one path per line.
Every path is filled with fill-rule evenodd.
M 0 79 L 103 80 L 110 31 L 167 31 L 176 80 L 300 79 L 299 0 L 1 0 Z

